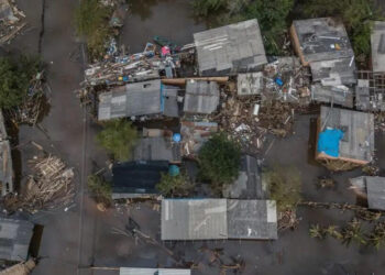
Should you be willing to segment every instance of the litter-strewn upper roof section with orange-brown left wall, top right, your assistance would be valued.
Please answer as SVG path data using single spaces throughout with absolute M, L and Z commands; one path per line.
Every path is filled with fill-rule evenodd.
M 354 56 L 342 23 L 338 23 L 331 18 L 318 18 L 295 20 L 293 24 L 306 62 L 351 58 Z

